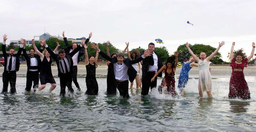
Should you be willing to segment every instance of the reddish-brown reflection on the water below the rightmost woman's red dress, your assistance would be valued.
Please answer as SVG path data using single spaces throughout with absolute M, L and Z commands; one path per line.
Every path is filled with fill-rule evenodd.
M 230 101 L 230 111 L 233 113 L 246 113 L 247 106 L 250 105 L 250 102 L 245 101 Z

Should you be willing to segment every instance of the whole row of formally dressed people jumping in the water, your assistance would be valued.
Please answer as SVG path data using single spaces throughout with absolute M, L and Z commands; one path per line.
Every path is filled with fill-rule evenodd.
M 26 91 L 30 91 L 33 85 L 33 90 L 40 91 L 45 88 L 46 83 L 50 83 L 50 92 L 55 89 L 56 82 L 52 76 L 52 59 L 56 61 L 58 68 L 58 77 L 60 77 L 60 95 L 65 96 L 66 86 L 68 91 L 73 93 L 72 81 L 75 83 L 76 88 L 81 91 L 81 88 L 77 82 L 77 65 L 79 63 L 80 57 L 85 56 L 85 67 L 86 67 L 86 92 L 85 94 L 95 95 L 98 94 L 98 83 L 96 80 L 96 68 L 98 67 L 98 56 L 99 54 L 109 61 L 108 63 L 108 75 L 107 75 L 107 94 L 116 94 L 119 91 L 120 96 L 123 98 L 129 98 L 129 81 L 131 82 L 130 88 L 133 86 L 133 81 L 136 80 L 136 88 L 141 87 L 141 95 L 145 96 L 149 93 L 149 89 L 153 89 L 157 84 L 157 77 L 162 77 L 164 73 L 164 78 L 161 85 L 158 87 L 159 92 L 162 94 L 170 94 L 173 97 L 176 96 L 175 91 L 175 71 L 178 64 L 178 52 L 171 55 L 165 61 L 163 65 L 161 57 L 155 52 L 155 44 L 149 43 L 148 49 L 139 52 L 133 50 L 130 54 L 129 52 L 129 42 L 126 43 L 125 51 L 128 52 L 128 57 L 124 57 L 124 52 L 122 53 L 109 53 L 109 41 L 107 41 L 107 53 L 101 51 L 98 45 L 94 43 L 91 44 L 92 48 L 96 50 L 96 56 L 88 56 L 87 53 L 87 43 L 92 37 L 92 33 L 85 40 L 82 39 L 80 45 L 73 43 L 72 46 L 68 44 L 68 40 L 65 37 L 64 31 L 62 33 L 63 39 L 66 45 L 65 49 L 60 49 L 58 55 L 56 54 L 58 47 L 60 46 L 57 42 L 57 47 L 54 51 L 46 44 L 46 40 L 41 38 L 40 46 L 38 50 L 35 41 L 32 39 L 33 49 L 29 50 L 29 54 L 26 53 L 26 40 L 21 38 L 19 51 L 15 54 L 13 48 L 9 49 L 9 53 L 5 51 L 5 41 L 7 40 L 7 35 L 4 35 L 4 41 L 2 44 L 2 51 L 4 55 L 4 73 L 3 73 L 3 91 L 2 93 L 7 93 L 7 88 L 10 82 L 11 93 L 16 93 L 16 72 L 19 71 L 20 61 L 19 57 L 21 52 L 27 61 L 27 81 L 26 81 Z M 210 60 L 216 55 L 220 47 L 225 44 L 224 41 L 219 42 L 217 49 L 210 55 L 206 56 L 205 52 L 201 52 L 199 58 L 193 53 L 189 48 L 189 43 L 186 43 L 186 47 L 191 54 L 190 59 L 183 63 L 180 71 L 180 77 L 178 82 L 178 89 L 185 94 L 184 88 L 188 83 L 188 72 L 189 70 L 196 66 L 199 68 L 199 79 L 198 79 L 198 92 L 199 96 L 203 97 L 203 92 L 206 92 L 208 97 L 212 97 L 212 80 L 210 73 Z M 230 66 L 232 67 L 232 74 L 229 82 L 229 94 L 230 98 L 241 98 L 249 99 L 250 91 L 248 85 L 244 78 L 244 67 L 247 67 L 248 60 L 253 56 L 255 50 L 255 43 L 252 43 L 252 52 L 250 56 L 246 57 L 243 50 L 239 50 L 234 54 L 234 45 L 232 43 L 230 52 Z M 35 54 L 36 53 L 36 54 Z M 197 62 L 197 64 L 195 63 Z M 39 79 L 41 86 L 39 85 Z M 166 90 L 164 90 L 166 88 Z M 117 90 L 116 90 L 117 89 Z M 164 91 L 163 91 L 164 90 Z

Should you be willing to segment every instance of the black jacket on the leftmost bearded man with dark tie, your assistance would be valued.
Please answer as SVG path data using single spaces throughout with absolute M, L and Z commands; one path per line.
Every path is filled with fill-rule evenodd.
M 6 50 L 5 50 L 5 46 L 6 45 L 3 45 L 2 44 L 2 52 L 3 52 L 3 56 L 4 56 L 4 72 L 6 71 L 6 66 L 7 66 L 7 56 L 10 56 L 9 53 L 6 53 Z M 22 49 L 23 48 L 20 48 L 17 52 L 17 54 L 14 54 L 13 56 L 16 57 L 16 66 L 15 66 L 15 71 L 18 72 L 19 69 L 20 69 L 20 54 L 22 52 Z

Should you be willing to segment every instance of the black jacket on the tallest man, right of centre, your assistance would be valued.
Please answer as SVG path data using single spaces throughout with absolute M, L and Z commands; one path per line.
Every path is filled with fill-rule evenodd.
M 154 51 L 154 53 L 156 54 L 157 59 L 158 59 L 158 66 L 157 66 L 157 71 L 158 71 L 163 66 L 163 63 L 161 61 L 160 56 L 155 51 Z M 141 54 L 144 54 L 144 51 L 141 52 Z M 143 59 L 143 62 L 142 62 L 142 78 L 147 77 L 148 66 L 153 66 L 153 65 L 154 65 L 154 58 L 153 58 L 152 54 L 151 54 L 151 56 L 148 56 L 145 59 Z M 157 77 L 162 77 L 162 72 L 159 73 L 157 75 Z

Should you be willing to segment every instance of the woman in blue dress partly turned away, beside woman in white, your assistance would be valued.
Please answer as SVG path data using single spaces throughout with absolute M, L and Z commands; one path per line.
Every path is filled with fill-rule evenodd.
M 178 84 L 178 88 L 183 94 L 185 94 L 185 91 L 183 88 L 188 83 L 188 72 L 192 67 L 194 66 L 198 67 L 198 64 L 194 63 L 194 61 L 195 59 L 192 56 L 190 56 L 189 61 L 183 62 L 183 65 L 180 71 L 179 84 Z

